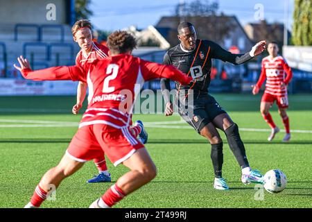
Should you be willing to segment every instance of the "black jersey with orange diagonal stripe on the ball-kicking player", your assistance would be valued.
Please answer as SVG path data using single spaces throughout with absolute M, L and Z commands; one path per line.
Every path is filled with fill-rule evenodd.
M 193 49 L 193 51 L 183 49 L 181 44 L 169 49 L 164 56 L 164 65 L 173 65 L 193 78 L 193 81 L 187 86 L 180 86 L 179 83 L 176 83 L 177 89 L 193 89 L 194 92 L 208 92 L 213 58 L 239 65 L 247 62 L 252 57 L 249 52 L 232 54 L 215 42 L 196 40 L 196 49 Z M 169 80 L 162 79 L 161 87 L 162 90 L 170 90 Z

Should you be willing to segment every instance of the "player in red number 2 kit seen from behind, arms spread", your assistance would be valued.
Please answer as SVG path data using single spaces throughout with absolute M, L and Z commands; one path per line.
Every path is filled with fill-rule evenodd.
M 155 78 L 170 78 L 186 85 L 191 78 L 172 66 L 131 56 L 137 42 L 135 37 L 125 31 L 112 33 L 108 37 L 107 46 L 110 48 L 110 58 L 97 60 L 87 73 L 77 66 L 31 71 L 28 61 L 22 56 L 18 58 L 21 67 L 14 65 L 26 79 L 86 82 L 89 78 L 93 93 L 78 131 L 60 164 L 44 174 L 26 208 L 40 207 L 51 185 L 57 188 L 64 178 L 103 152 L 114 166 L 123 164 L 130 171 L 121 176 L 101 198 L 95 200 L 91 208 L 112 207 L 155 178 L 157 171 L 153 160 L 144 145 L 129 131 L 132 107 L 139 94 L 136 86 L 139 84 L 143 87 L 145 81 Z

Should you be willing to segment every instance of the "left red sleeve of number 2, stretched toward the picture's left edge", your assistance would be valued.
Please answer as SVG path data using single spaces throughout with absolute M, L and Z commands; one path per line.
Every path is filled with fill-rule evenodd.
M 23 69 L 21 70 L 21 75 L 30 80 L 79 80 L 86 82 L 86 74 L 83 69 L 77 66 L 51 67 L 36 71 Z

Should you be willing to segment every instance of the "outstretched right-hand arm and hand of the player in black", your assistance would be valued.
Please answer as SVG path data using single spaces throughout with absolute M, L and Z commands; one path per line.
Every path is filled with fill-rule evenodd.
M 266 49 L 266 41 L 258 42 L 252 47 L 252 50 L 245 54 L 233 54 L 226 51 L 216 43 L 211 44 L 212 58 L 223 60 L 223 62 L 231 62 L 234 65 L 240 65 L 251 60 L 254 56 L 258 56 Z

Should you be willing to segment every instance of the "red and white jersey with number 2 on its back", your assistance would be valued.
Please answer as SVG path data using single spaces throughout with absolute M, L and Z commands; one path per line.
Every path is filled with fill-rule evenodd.
M 187 85 L 192 80 L 173 66 L 159 65 L 126 54 L 96 60 L 87 72 L 81 67 L 72 66 L 37 71 L 23 69 L 21 74 L 32 80 L 87 81 L 93 96 L 80 127 L 100 123 L 114 128 L 128 127 L 132 105 L 145 81 L 170 78 Z

